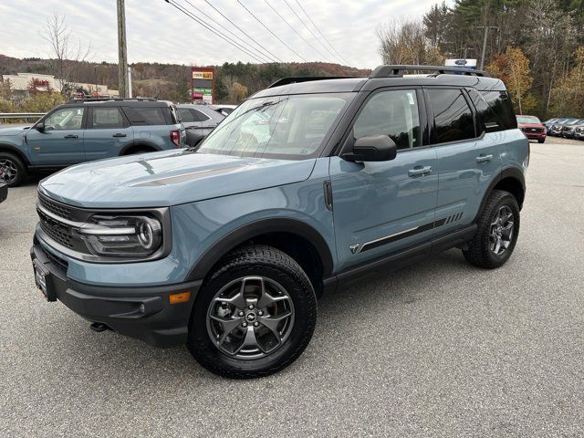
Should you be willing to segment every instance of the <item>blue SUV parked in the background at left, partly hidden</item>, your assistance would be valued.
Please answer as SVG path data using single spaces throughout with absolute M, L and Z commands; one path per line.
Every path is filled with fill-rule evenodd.
M 32 128 L 0 130 L 0 183 L 29 172 L 148 151 L 176 150 L 186 134 L 174 105 L 155 99 L 73 99 Z

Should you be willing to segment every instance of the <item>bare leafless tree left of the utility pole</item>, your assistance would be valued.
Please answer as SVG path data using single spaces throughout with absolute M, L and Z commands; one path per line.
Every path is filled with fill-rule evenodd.
M 84 62 L 91 53 L 91 44 L 87 47 L 81 44 L 81 40 L 73 40 L 71 32 L 65 24 L 65 16 L 57 11 L 47 18 L 45 28 L 41 36 L 51 47 L 50 68 L 61 94 L 71 92 L 74 85 L 74 69 L 78 62 Z

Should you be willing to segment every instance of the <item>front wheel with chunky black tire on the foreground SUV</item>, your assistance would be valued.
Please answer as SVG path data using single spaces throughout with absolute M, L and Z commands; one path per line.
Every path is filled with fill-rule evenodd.
M 249 308 L 250 303 L 255 308 Z M 225 256 L 199 291 L 187 348 L 204 368 L 220 376 L 263 377 L 297 360 L 316 321 L 314 288 L 297 262 L 271 246 L 245 246 Z M 247 344 L 248 339 L 255 346 Z

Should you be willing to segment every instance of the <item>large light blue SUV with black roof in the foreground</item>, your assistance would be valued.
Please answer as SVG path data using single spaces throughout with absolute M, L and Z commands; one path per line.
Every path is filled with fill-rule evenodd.
M 371 271 L 454 246 L 502 266 L 529 144 L 500 80 L 452 73 L 285 78 L 196 151 L 54 174 L 38 186 L 37 286 L 95 330 L 186 344 L 247 378 L 296 360 L 317 298 Z

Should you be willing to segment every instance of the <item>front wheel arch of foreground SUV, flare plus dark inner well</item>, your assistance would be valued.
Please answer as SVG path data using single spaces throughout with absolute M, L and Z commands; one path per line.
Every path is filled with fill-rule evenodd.
M 213 272 L 214 266 L 221 261 L 224 255 L 248 242 L 272 245 L 286 252 L 295 258 L 305 271 L 309 271 L 307 272 L 308 276 L 313 276 L 311 280 L 318 279 L 320 282 L 323 276 L 329 276 L 332 273 L 331 250 L 324 237 L 314 227 L 297 219 L 271 218 L 246 224 L 224 235 L 195 262 L 185 281 L 205 278 Z M 296 252 L 296 254 L 290 254 L 290 252 Z M 303 255 L 312 255 L 318 260 L 306 260 Z M 298 260 L 298 256 L 302 259 Z M 319 266 L 315 267 L 307 262 L 318 262 Z M 318 287 L 318 285 L 314 286 Z

